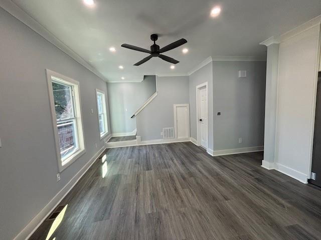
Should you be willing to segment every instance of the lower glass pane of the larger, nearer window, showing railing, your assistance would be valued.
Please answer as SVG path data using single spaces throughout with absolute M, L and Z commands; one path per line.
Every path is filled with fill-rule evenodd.
M 62 161 L 78 149 L 75 120 L 57 124 Z

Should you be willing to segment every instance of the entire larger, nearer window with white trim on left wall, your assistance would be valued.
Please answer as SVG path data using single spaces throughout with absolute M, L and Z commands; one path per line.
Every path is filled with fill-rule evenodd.
M 84 153 L 79 82 L 47 69 L 59 170 Z

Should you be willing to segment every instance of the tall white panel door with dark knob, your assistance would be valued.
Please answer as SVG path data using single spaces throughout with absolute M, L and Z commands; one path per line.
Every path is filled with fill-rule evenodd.
M 208 147 L 208 107 L 207 85 L 198 90 L 198 137 L 201 146 Z

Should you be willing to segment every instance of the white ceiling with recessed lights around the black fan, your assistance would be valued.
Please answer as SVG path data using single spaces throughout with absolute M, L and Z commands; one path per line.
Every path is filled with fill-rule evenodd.
M 321 14 L 321 0 L 13 0 L 65 45 L 100 72 L 107 81 L 141 81 L 147 74 L 187 74 L 209 56 L 265 57 L 259 43 Z M 220 5 L 217 18 L 211 8 Z M 166 52 L 181 61 L 153 57 L 133 64 L 147 53 L 120 47 L 122 43 L 149 49 L 149 36 L 159 33 L 161 47 L 182 37 L 188 43 Z M 109 47 L 116 47 L 111 53 Z M 183 47 L 189 48 L 183 54 Z M 123 65 L 124 69 L 118 69 Z M 125 80 L 121 77 L 124 76 Z

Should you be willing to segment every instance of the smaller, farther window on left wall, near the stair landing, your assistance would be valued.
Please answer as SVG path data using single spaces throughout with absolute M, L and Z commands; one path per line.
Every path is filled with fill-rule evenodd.
M 96 89 L 96 97 L 98 112 L 98 128 L 100 139 L 102 139 L 108 133 L 105 92 Z

